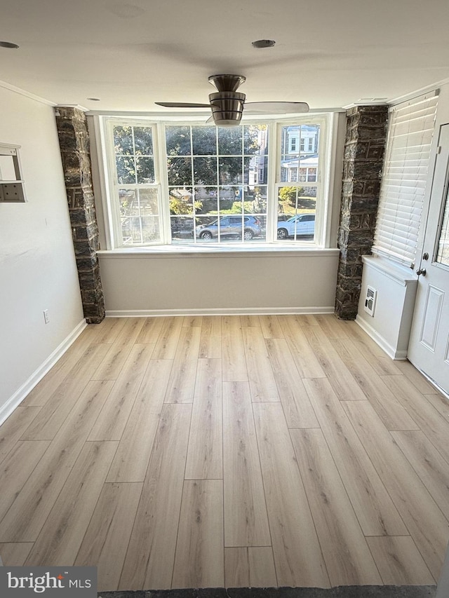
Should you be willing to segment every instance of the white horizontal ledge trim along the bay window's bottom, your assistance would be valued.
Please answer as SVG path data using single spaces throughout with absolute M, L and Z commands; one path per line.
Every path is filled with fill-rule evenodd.
M 251 247 L 247 250 L 241 247 L 223 247 L 210 249 L 209 247 L 180 247 L 175 245 L 159 245 L 156 247 L 135 247 L 132 250 L 100 250 L 97 252 L 102 259 L 116 258 L 173 258 L 173 257 L 330 257 L 339 255 L 338 249 L 307 249 L 307 247 L 290 248 L 273 247 L 262 248 Z

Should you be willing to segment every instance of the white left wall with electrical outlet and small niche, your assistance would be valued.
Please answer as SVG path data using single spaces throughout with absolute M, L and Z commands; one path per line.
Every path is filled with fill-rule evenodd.
M 0 86 L 1 143 L 21 146 L 27 203 L 0 204 L 0 423 L 83 322 L 53 107 Z

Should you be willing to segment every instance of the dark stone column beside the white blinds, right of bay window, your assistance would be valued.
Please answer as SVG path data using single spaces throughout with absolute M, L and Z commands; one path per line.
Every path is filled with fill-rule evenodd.
M 347 111 L 335 299 L 335 313 L 341 320 L 356 318 L 361 257 L 373 246 L 387 117 L 387 106 L 356 106 Z

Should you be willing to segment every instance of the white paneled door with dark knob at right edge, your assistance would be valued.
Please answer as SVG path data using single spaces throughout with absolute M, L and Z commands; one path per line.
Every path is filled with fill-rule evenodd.
M 449 393 L 449 123 L 436 151 L 408 359 Z

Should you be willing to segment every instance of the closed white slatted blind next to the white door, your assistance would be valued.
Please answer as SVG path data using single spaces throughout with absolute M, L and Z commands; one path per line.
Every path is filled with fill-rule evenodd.
M 373 253 L 413 267 L 438 95 L 390 109 Z

